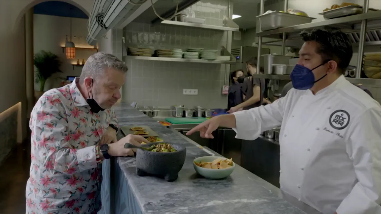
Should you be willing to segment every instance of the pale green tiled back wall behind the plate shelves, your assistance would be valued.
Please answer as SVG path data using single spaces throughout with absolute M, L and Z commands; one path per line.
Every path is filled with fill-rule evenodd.
M 202 0 L 184 12 L 194 12 L 197 18 L 206 19 L 205 24 L 222 26 L 223 16 L 228 15 L 228 8 L 227 0 Z M 127 46 L 149 47 L 152 50 L 181 48 L 185 51 L 189 47 L 219 49 L 227 43 L 226 32 L 219 30 L 164 24 L 150 26 L 134 22 L 124 30 Z M 125 62 L 129 71 L 123 89 L 123 100 L 127 103 L 227 107 L 227 96 L 221 94 L 228 75 L 225 72 L 226 65 L 131 60 L 128 56 Z M 183 89 L 198 89 L 198 95 L 183 95 Z

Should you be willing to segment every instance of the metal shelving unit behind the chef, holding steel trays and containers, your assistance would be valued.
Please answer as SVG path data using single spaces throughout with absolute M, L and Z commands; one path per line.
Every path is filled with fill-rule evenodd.
M 370 78 L 360 78 L 361 69 L 362 69 L 362 60 L 364 55 L 364 46 L 380 46 L 381 42 L 379 39 L 370 38 L 370 35 L 373 35 L 373 31 L 381 29 L 381 10 L 378 11 L 368 11 L 369 9 L 369 1 L 364 0 L 363 3 L 363 13 L 356 14 L 352 16 L 328 19 L 319 22 L 311 22 L 306 24 L 300 24 L 296 26 L 290 27 L 282 27 L 273 30 L 266 31 L 258 31 L 256 35 L 258 36 L 258 56 L 261 56 L 261 48 L 262 48 L 262 38 L 275 38 L 278 41 L 268 42 L 266 45 L 277 45 L 280 46 L 282 43 L 282 54 L 284 55 L 285 46 L 290 44 L 291 46 L 296 46 L 300 42 L 296 40 L 299 37 L 299 32 L 303 30 L 313 29 L 317 27 L 337 27 L 340 28 L 343 32 L 349 34 L 349 38 L 351 38 L 354 43 L 354 48 L 357 48 L 357 69 L 356 69 L 356 78 L 347 78 L 347 80 L 352 83 L 364 83 L 371 85 L 380 85 L 381 79 L 370 79 Z M 260 4 L 260 15 L 264 12 L 264 0 L 261 0 Z M 285 11 L 288 8 L 288 0 L 285 0 Z M 260 22 L 259 22 L 260 23 Z M 368 26 L 368 27 L 367 27 Z M 261 29 L 260 26 L 257 29 Z M 356 34 L 355 40 L 352 39 L 353 34 Z M 352 35 L 352 37 L 351 37 Z M 372 36 L 373 37 L 373 36 Z M 300 47 L 300 46 L 299 46 Z M 379 49 L 379 47 L 378 47 Z M 257 62 L 258 67 L 260 67 L 260 61 L 258 57 Z M 277 80 L 289 80 L 290 78 L 286 75 L 263 75 L 259 74 L 259 69 L 257 70 L 257 77 L 262 78 L 270 78 Z

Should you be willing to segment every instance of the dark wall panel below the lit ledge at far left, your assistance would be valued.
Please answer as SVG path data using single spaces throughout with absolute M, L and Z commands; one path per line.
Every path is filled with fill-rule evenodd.
M 17 112 L 0 122 L 0 163 L 17 143 Z

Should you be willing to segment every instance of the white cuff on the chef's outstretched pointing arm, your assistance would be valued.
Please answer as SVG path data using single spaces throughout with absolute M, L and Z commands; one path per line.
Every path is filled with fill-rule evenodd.
M 243 140 L 255 140 L 260 134 L 260 123 L 254 120 L 253 113 L 249 110 L 242 110 L 233 113 L 235 116 L 235 127 L 233 130 L 237 134 L 235 138 Z

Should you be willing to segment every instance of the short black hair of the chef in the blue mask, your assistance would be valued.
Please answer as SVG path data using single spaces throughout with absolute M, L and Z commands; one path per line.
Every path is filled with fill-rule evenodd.
M 339 29 L 313 29 L 301 32 L 304 42 L 314 41 L 319 43 L 316 50 L 322 56 L 322 62 L 333 60 L 337 63 L 338 70 L 344 73 L 352 59 L 352 43 L 348 36 Z

